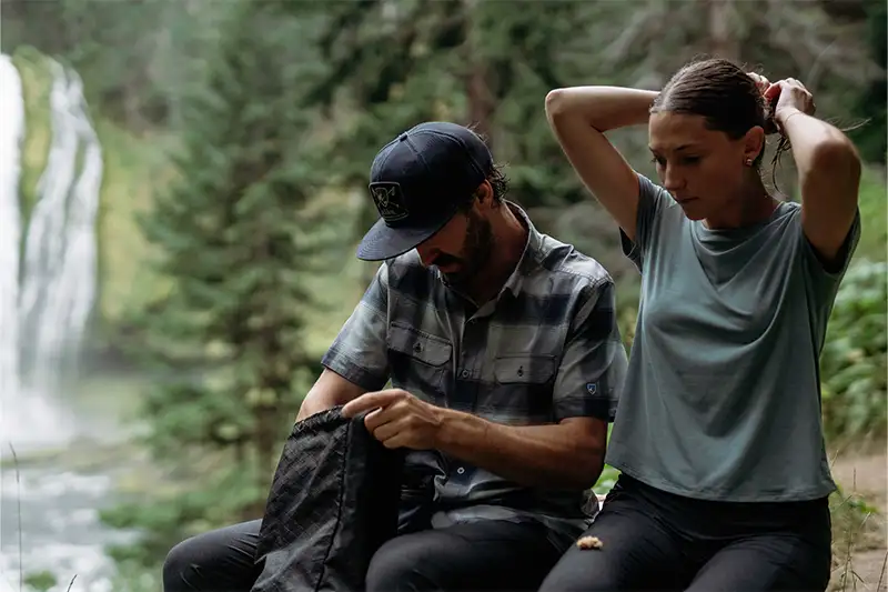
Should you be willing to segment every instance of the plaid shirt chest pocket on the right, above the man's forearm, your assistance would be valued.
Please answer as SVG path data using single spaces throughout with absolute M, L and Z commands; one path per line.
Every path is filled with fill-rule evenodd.
M 554 355 L 498 355 L 493 361 L 494 383 L 487 399 L 490 412 L 509 423 L 541 423 L 552 418 L 552 392 L 557 360 Z

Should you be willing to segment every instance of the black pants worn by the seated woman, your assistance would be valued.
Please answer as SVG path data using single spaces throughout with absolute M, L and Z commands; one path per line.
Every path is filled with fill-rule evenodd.
M 827 499 L 702 501 L 623 474 L 584 534 L 602 548 L 569 549 L 542 592 L 823 591 L 829 582 Z

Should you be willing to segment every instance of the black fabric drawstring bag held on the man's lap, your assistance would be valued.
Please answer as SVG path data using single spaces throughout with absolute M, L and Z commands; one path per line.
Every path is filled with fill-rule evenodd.
M 395 535 L 404 454 L 336 407 L 297 422 L 272 479 L 251 592 L 355 592 Z

